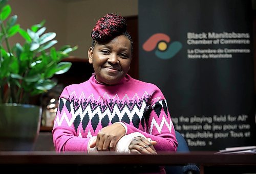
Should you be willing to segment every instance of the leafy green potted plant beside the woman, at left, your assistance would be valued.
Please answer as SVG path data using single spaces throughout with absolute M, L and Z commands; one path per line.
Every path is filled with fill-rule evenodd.
M 70 62 L 63 62 L 76 46 L 56 50 L 56 33 L 45 33 L 45 20 L 25 31 L 10 16 L 8 0 L 0 0 L 0 103 L 29 103 L 29 97 L 52 89 L 54 74 L 67 72 Z M 24 44 L 10 45 L 9 38 L 19 34 Z

